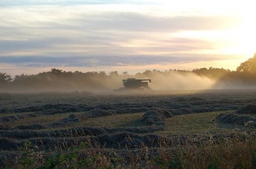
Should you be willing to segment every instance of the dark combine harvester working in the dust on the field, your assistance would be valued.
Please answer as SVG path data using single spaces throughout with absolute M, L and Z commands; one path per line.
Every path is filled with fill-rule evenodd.
M 123 80 L 124 87 L 115 89 L 114 91 L 149 91 L 151 88 L 148 86 L 148 82 L 151 83 L 151 79 L 127 78 Z

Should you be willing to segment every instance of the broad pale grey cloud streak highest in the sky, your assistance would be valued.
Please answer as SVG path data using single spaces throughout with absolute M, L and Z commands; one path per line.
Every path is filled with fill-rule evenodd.
M 33 8 L 20 11 L 20 17 L 11 10 L 0 10 L 9 17 L 1 17 L 2 31 L 21 32 L 34 35 L 34 32 L 181 32 L 187 30 L 220 30 L 237 23 L 235 17 L 224 16 L 175 16 L 158 17 L 134 12 L 92 11 L 90 7 L 77 8 Z M 84 12 L 89 10 L 89 12 Z M 25 11 L 26 10 L 26 11 Z M 19 11 L 17 11 L 19 13 Z M 59 33 L 56 31 L 60 31 Z M 40 35 L 40 34 L 39 34 Z

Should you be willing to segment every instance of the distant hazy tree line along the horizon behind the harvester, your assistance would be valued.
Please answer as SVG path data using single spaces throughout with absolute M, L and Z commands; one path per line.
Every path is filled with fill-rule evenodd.
M 50 71 L 44 71 L 38 74 L 20 74 L 12 78 L 9 74 L 0 72 L 0 86 L 2 91 L 8 89 L 105 89 L 121 86 L 123 78 L 151 78 L 156 75 L 172 76 L 172 74 L 197 74 L 202 77 L 209 77 L 214 80 L 233 80 L 243 81 L 256 85 L 256 53 L 254 57 L 242 62 L 236 71 L 230 71 L 224 68 L 196 68 L 193 71 L 169 69 L 166 71 L 146 70 L 143 73 L 130 75 L 124 71 L 118 74 L 117 71 L 111 71 L 106 74 L 105 71 L 62 71 L 52 68 Z M 116 85 L 113 86 L 113 83 Z

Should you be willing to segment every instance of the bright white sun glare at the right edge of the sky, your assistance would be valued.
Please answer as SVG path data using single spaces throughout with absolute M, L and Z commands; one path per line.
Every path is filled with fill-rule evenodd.
M 228 29 L 200 30 L 179 32 L 175 36 L 181 38 L 201 39 L 212 44 L 209 49 L 195 51 L 202 54 L 223 54 L 250 57 L 256 52 L 255 15 L 238 17 L 237 24 Z

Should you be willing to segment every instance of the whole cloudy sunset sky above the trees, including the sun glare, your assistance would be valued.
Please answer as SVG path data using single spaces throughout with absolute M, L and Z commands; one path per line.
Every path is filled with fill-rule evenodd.
M 1 0 L 0 72 L 236 70 L 256 52 L 253 0 Z

